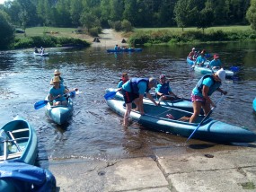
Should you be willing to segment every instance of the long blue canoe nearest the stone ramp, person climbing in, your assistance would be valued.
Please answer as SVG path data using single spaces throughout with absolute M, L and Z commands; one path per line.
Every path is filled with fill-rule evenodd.
M 120 116 L 123 116 L 126 111 L 123 103 L 123 100 L 107 100 L 110 109 Z M 132 110 L 130 118 L 144 127 L 184 137 L 189 137 L 199 126 L 199 122 L 202 118 L 204 118 L 203 116 L 199 116 L 196 123 L 189 123 L 189 118 L 192 115 L 189 111 L 154 106 L 151 104 L 144 104 L 144 109 L 144 116 L 141 116 L 136 110 Z M 243 127 L 237 127 L 212 118 L 207 118 L 192 138 L 217 143 L 251 143 L 256 141 L 256 134 Z

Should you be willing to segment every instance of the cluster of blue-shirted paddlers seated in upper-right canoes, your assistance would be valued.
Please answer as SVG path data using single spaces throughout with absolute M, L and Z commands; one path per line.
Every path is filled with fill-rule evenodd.
M 207 62 L 205 49 L 203 49 L 202 51 L 196 51 L 196 48 L 192 48 L 188 57 L 191 61 L 194 61 L 194 65 L 192 65 L 192 67 L 195 67 L 195 65 L 204 66 Z M 210 67 L 211 69 L 223 68 L 222 62 L 220 61 L 218 54 L 214 55 L 214 58 L 209 62 L 208 65 L 206 65 L 206 67 Z

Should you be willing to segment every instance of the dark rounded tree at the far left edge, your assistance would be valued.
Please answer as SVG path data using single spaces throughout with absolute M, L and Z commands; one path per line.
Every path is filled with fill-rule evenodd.
M 14 39 L 14 29 L 7 13 L 0 10 L 0 49 L 8 48 Z

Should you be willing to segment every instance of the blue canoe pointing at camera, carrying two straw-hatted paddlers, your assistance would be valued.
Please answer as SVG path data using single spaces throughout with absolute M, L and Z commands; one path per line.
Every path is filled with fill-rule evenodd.
M 48 100 L 48 97 L 46 98 Z M 68 98 L 67 105 L 51 106 L 48 104 L 45 107 L 46 115 L 58 125 L 65 124 L 73 115 L 73 101 Z

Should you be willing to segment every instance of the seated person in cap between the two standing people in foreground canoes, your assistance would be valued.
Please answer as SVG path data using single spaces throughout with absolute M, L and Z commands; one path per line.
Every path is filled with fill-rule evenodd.
M 161 100 L 175 100 L 178 97 L 172 92 L 169 82 L 166 82 L 166 76 L 161 74 L 159 77 L 160 83 L 155 88 L 156 97 Z M 172 97 L 170 97 L 172 96 Z

